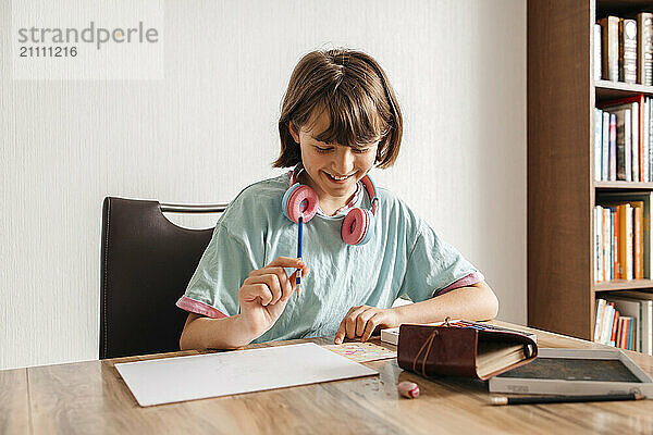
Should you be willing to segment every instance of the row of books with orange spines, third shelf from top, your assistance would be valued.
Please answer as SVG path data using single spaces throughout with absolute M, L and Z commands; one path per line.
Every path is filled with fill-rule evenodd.
M 653 192 L 604 191 L 594 207 L 594 281 L 651 278 Z

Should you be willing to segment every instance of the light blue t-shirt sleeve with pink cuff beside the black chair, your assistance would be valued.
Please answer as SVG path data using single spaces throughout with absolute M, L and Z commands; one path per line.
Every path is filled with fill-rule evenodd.
M 255 264 L 251 250 L 219 222 L 176 306 L 214 319 L 237 314 L 238 290 Z

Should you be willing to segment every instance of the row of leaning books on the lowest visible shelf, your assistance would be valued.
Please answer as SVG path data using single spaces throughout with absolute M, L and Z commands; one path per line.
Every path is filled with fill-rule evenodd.
M 653 293 L 603 295 L 595 319 L 595 343 L 653 355 Z

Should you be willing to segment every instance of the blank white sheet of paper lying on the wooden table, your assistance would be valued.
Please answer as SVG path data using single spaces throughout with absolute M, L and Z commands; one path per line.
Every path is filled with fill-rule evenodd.
M 313 343 L 115 364 L 141 407 L 379 374 Z

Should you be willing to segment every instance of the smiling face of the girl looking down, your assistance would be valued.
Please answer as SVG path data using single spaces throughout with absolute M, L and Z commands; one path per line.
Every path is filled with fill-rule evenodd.
M 308 175 L 306 183 L 318 194 L 320 207 L 329 214 L 344 207 L 356 192 L 356 184 L 374 165 L 379 142 L 364 148 L 325 144 L 316 139 L 329 127 L 325 111 L 316 120 L 310 130 L 291 134 L 301 150 L 301 162 Z

